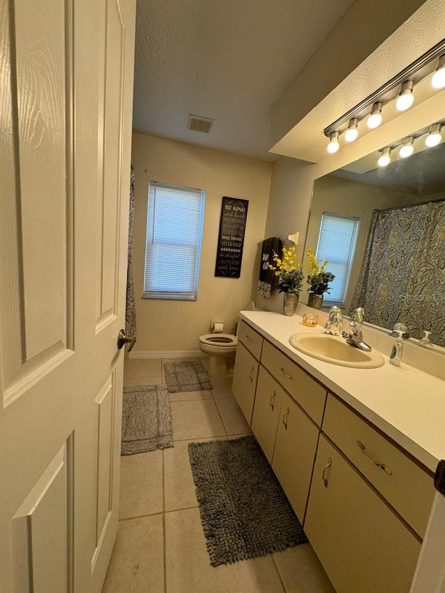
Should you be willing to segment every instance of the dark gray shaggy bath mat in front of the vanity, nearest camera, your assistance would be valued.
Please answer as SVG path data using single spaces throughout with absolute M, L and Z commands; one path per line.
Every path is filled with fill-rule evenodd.
M 190 443 L 188 456 L 212 566 L 307 542 L 254 437 Z

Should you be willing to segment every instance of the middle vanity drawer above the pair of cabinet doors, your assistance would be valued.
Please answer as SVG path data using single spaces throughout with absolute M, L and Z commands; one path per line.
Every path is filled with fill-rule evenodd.
M 286 391 L 300 404 L 312 420 L 321 426 L 326 390 L 307 375 L 295 362 L 272 344 L 264 341 L 261 363 Z

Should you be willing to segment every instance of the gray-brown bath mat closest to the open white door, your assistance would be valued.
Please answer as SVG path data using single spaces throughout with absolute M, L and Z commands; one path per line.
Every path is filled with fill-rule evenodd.
M 124 387 L 121 455 L 173 446 L 172 409 L 165 385 Z

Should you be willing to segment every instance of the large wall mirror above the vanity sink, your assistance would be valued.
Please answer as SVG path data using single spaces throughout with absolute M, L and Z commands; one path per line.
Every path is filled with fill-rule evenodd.
M 402 138 L 385 167 L 375 152 L 316 179 L 306 248 L 316 251 L 323 230 L 327 245 L 350 233 L 342 261 L 328 256 L 337 279 L 323 307 L 339 304 L 348 315 L 364 306 L 369 323 L 386 330 L 404 323 L 414 339 L 445 347 L 445 129 L 435 147 L 426 148 L 426 133 L 413 134 L 408 158 L 396 147 Z M 341 276 L 344 290 L 335 284 Z

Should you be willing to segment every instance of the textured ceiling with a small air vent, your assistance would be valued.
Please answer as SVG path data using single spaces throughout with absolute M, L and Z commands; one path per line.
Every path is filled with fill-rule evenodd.
M 133 129 L 275 161 L 270 109 L 352 3 L 138 0 Z

